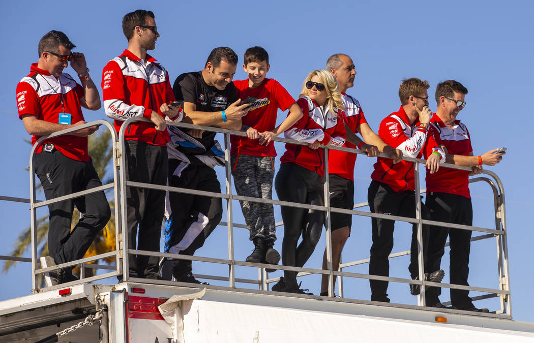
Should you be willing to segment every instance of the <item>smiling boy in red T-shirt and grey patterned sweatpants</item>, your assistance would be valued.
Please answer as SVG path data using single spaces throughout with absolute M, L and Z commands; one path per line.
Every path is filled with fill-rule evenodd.
M 302 117 L 302 111 L 295 100 L 276 80 L 266 78 L 269 71 L 269 54 L 260 46 L 245 52 L 243 70 L 248 78 L 234 81 L 237 95 L 241 100 L 256 98 L 249 107 L 248 114 L 242 117 L 242 130 L 247 138 L 231 136 L 231 163 L 235 190 L 241 196 L 272 199 L 274 177 L 274 143 L 271 140 L 286 131 Z M 278 108 L 289 109 L 290 114 L 276 126 Z M 276 240 L 274 208 L 271 204 L 240 201 L 250 241 L 254 251 L 247 262 L 265 262 L 277 265 L 280 254 L 272 247 Z M 274 272 L 274 269 L 267 269 Z

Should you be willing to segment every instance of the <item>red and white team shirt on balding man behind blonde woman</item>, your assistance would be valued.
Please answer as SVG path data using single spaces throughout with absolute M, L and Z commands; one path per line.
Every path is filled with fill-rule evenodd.
M 343 105 L 347 111 L 343 112 L 343 121 L 350 127 L 354 133 L 358 133 L 358 126 L 367 123 L 364 116 L 364 111 L 360 107 L 358 100 L 352 98 L 350 95 L 341 93 Z M 345 141 L 343 145 L 347 148 L 356 149 L 357 147 Z M 347 153 L 346 151 L 329 150 L 328 155 L 328 173 L 336 174 L 344 179 L 354 181 L 354 165 L 356 163 L 357 154 Z

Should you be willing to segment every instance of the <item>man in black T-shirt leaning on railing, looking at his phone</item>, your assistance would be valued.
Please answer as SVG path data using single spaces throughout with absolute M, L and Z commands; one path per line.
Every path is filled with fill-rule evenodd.
M 241 130 L 241 117 L 249 105 L 238 106 L 232 78 L 237 55 L 229 47 L 211 51 L 201 71 L 185 73 L 176 78 L 174 94 L 184 101 L 184 123 Z M 169 186 L 221 193 L 214 166 L 224 165 L 224 152 L 215 132 L 180 129 L 168 126 L 170 142 Z M 167 193 L 165 251 L 193 255 L 222 217 L 221 198 L 185 193 Z M 176 281 L 200 283 L 193 277 L 191 261 L 167 259 L 162 277 Z

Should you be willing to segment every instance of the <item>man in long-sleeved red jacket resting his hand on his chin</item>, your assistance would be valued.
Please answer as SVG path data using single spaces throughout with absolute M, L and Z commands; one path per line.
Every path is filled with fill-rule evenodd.
M 431 149 L 426 167 L 431 173 L 439 168 L 439 162 L 445 162 L 445 153 L 437 147 L 433 132 L 429 131 L 432 111 L 428 108 L 427 81 L 418 78 L 405 79 L 399 87 L 402 104 L 397 112 L 384 118 L 380 123 L 378 134 L 384 143 L 403 151 L 404 156 L 421 158 L 423 149 Z M 378 157 L 371 174 L 371 185 L 367 193 L 371 212 L 391 214 L 393 216 L 415 218 L 415 184 L 413 162 L 400 161 L 394 164 L 389 158 Z M 430 219 L 425 205 L 421 204 L 421 217 Z M 389 276 L 388 256 L 393 248 L 394 220 L 372 218 L 373 245 L 369 274 Z M 418 244 L 417 224 L 412 228 L 411 262 L 408 269 L 412 279 L 418 278 Z M 423 253 L 428 242 L 428 225 L 423 225 Z M 443 270 L 435 270 L 428 280 L 439 282 Z M 371 300 L 389 302 L 387 297 L 388 282 L 370 280 Z M 419 286 L 411 285 L 411 293 L 419 294 Z

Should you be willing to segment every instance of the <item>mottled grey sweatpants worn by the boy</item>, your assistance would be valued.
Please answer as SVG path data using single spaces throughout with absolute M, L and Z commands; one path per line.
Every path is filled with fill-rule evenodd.
M 272 199 L 272 180 L 274 178 L 274 158 L 270 156 L 249 156 L 234 154 L 230 156 L 235 190 L 241 196 Z M 274 226 L 274 206 L 249 201 L 240 201 L 245 223 L 254 238 L 276 240 Z

